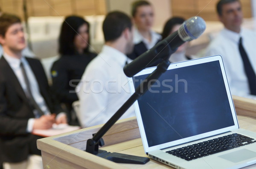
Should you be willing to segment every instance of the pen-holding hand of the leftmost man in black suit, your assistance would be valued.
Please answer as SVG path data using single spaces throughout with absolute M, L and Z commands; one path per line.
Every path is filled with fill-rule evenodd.
M 36 118 L 33 129 L 50 129 L 52 124 L 55 123 L 55 116 L 42 115 L 40 118 Z

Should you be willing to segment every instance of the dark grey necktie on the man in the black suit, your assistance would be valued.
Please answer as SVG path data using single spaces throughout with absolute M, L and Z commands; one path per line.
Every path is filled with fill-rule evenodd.
M 26 71 L 25 71 L 25 68 L 23 66 L 23 63 L 20 62 L 20 68 L 21 68 L 21 72 L 23 74 L 23 77 L 24 77 L 24 80 L 25 80 L 25 83 L 26 83 L 26 97 L 29 99 L 29 104 L 30 106 L 32 107 L 33 109 L 33 113 L 35 115 L 35 118 L 39 118 L 41 117 L 41 115 L 44 115 L 44 112 L 40 109 L 40 107 L 38 106 L 38 104 L 35 102 L 35 99 L 32 95 L 32 92 L 31 92 L 31 89 L 30 89 L 30 83 L 29 83 L 29 79 L 26 75 Z

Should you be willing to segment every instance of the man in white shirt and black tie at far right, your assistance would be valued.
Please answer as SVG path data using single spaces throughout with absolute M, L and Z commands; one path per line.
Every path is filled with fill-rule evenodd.
M 220 0 L 217 11 L 225 28 L 210 43 L 206 56 L 220 54 L 223 57 L 232 95 L 256 99 L 256 32 L 241 28 L 243 14 L 239 0 Z M 245 65 L 241 46 L 249 66 Z M 248 76 L 249 68 L 251 76 Z

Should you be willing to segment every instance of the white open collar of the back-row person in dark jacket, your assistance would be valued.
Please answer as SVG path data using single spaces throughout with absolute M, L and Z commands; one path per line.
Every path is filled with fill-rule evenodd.
M 154 31 L 150 31 L 150 34 L 151 34 L 151 41 L 148 41 L 140 34 L 138 29 L 135 29 L 134 30 L 134 44 L 137 45 L 138 43 L 143 42 L 147 49 L 151 49 L 153 46 L 155 46 L 155 44 L 159 40 L 162 39 L 162 36 Z

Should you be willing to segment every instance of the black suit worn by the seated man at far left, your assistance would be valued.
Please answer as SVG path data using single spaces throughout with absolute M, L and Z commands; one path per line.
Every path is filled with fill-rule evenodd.
M 52 113 L 62 112 L 52 97 L 46 74 L 39 60 L 26 58 L 34 72 L 41 95 Z M 4 162 L 20 162 L 29 154 L 41 155 L 36 140 L 26 132 L 29 118 L 34 118 L 26 95 L 4 57 L 0 58 L 0 155 Z

